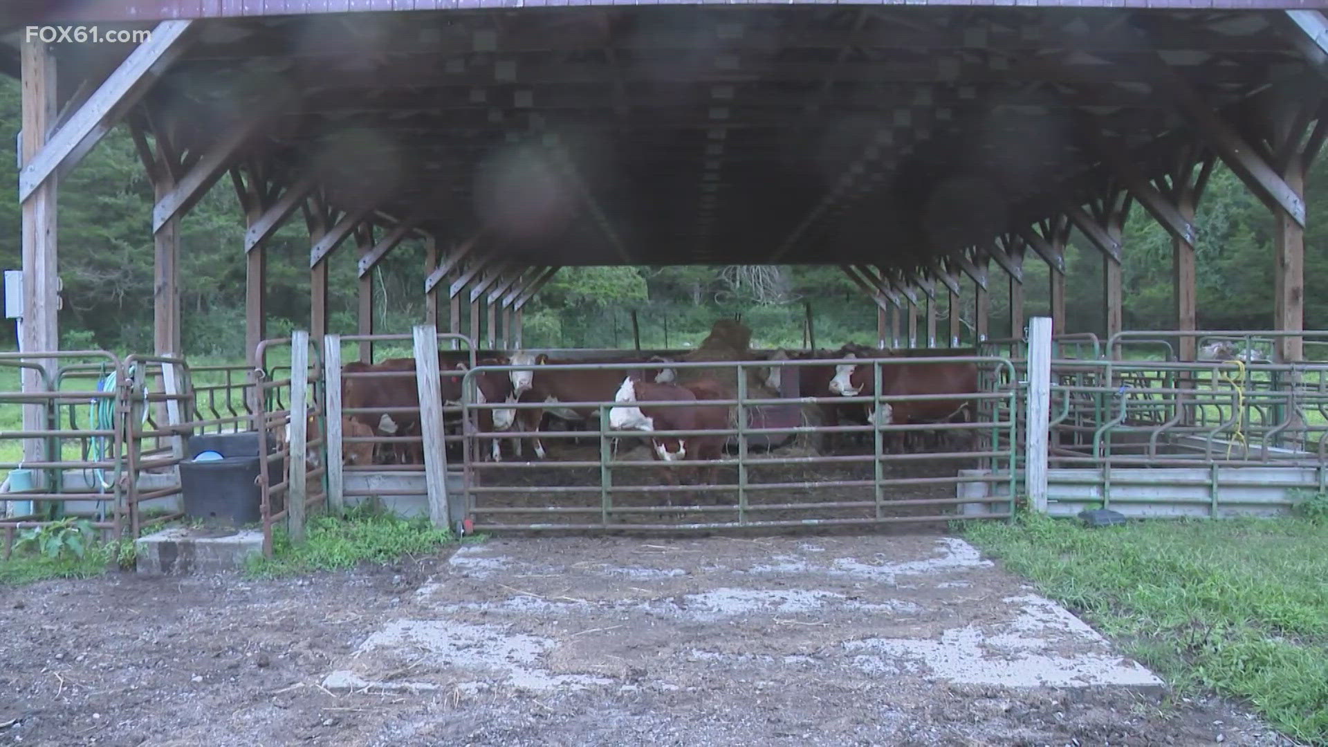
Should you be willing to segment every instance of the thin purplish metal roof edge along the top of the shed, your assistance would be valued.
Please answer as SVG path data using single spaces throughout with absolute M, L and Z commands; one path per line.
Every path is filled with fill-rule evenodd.
M 155 21 L 166 19 L 286 16 L 369 11 L 450 11 L 457 8 L 521 8 L 540 5 L 653 5 L 676 0 L 16 0 L 4 12 L 8 24 Z M 687 0 L 701 5 L 732 5 L 733 0 Z M 758 1 L 758 0 L 752 0 Z M 837 3 L 801 0 L 797 4 Z M 863 5 L 981 5 L 1153 9 L 1328 9 L 1328 0 L 883 0 Z

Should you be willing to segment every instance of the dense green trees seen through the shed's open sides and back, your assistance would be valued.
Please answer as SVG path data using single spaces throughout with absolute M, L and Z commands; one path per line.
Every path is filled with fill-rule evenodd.
M 19 89 L 5 80 L 0 82 L 0 142 L 15 142 L 19 121 Z M 17 183 L 13 158 L 0 158 L 0 179 Z M 1323 183 L 1321 170 L 1311 174 L 1309 283 L 1328 270 L 1328 233 L 1316 219 Z M 66 347 L 151 347 L 151 185 L 127 134 L 120 130 L 62 182 L 58 223 L 65 310 L 60 324 Z M 1198 225 L 1199 324 L 1268 328 L 1274 266 L 1268 210 L 1219 166 L 1199 207 Z M 20 266 L 20 235 L 19 206 L 0 201 L 4 267 Z M 230 179 L 219 179 L 181 226 L 183 335 L 190 354 L 242 354 L 242 237 L 243 215 L 234 189 Z M 1102 258 L 1080 237 L 1073 241 L 1068 251 L 1068 328 L 1100 331 Z M 267 298 L 274 334 L 308 324 L 307 251 L 308 234 L 299 219 L 270 242 Z M 890 251 L 888 241 L 882 251 Z M 1126 327 L 1174 328 L 1170 239 L 1138 207 L 1126 226 L 1125 251 Z M 331 258 L 331 331 L 355 330 L 355 261 L 349 246 Z M 1048 268 L 1036 255 L 1029 255 L 1025 266 L 1028 312 L 1046 312 Z M 422 276 L 424 249 L 418 243 L 404 245 L 384 261 L 373 276 L 380 330 L 405 331 L 424 316 Z M 996 278 L 1003 274 L 997 271 Z M 971 320 L 971 294 L 963 303 L 963 318 Z M 563 270 L 546 287 L 527 307 L 525 340 L 529 346 L 627 347 L 632 343 L 631 311 L 636 310 L 641 342 L 651 347 L 695 343 L 716 318 L 733 314 L 741 314 L 756 331 L 758 344 L 801 344 L 805 304 L 813 308 L 821 346 L 875 336 L 874 306 L 834 267 L 778 267 L 760 275 L 718 267 L 596 267 Z M 993 336 L 1008 332 L 1007 310 L 1008 288 L 997 282 L 992 290 Z M 1328 298 L 1307 294 L 1305 316 L 1311 328 L 1328 327 Z M 469 330 L 469 323 L 463 328 Z M 942 323 L 942 335 L 944 330 Z M 5 335 L 12 334 L 9 327 Z

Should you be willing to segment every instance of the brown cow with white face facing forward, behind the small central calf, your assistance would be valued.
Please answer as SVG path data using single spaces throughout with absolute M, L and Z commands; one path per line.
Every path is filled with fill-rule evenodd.
M 513 393 L 519 397 L 518 401 L 523 403 L 564 403 L 564 401 L 614 401 L 614 393 L 623 383 L 623 376 L 628 371 L 620 368 L 616 370 L 572 370 L 572 371 L 558 371 L 543 368 L 544 366 L 558 366 L 567 363 L 579 363 L 576 360 L 552 360 L 544 354 L 531 355 L 529 352 L 517 352 L 511 356 L 513 366 L 530 366 L 526 370 L 511 371 L 511 385 Z M 598 363 L 669 363 L 667 359 L 655 356 L 649 360 L 640 359 L 627 359 L 627 360 L 607 360 Z M 635 371 L 633 371 L 635 374 Z M 656 383 L 672 381 L 676 377 L 676 372 L 668 367 L 647 367 L 644 375 L 655 379 Z M 552 412 L 564 420 L 586 420 L 592 417 L 598 408 L 595 407 L 576 407 L 576 408 L 522 408 L 517 411 L 517 419 L 521 424 L 521 431 L 534 432 L 531 436 L 535 447 L 535 456 L 538 459 L 544 459 L 547 452 L 544 451 L 544 444 L 539 440 L 540 424 L 544 419 L 544 412 Z M 598 427 L 596 427 L 598 429 Z M 517 453 L 521 455 L 521 439 L 517 439 Z

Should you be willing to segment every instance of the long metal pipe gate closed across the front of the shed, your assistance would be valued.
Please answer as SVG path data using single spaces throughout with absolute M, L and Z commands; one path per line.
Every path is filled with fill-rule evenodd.
M 928 358 L 920 359 L 859 359 L 858 364 L 871 368 L 875 387 L 870 396 L 825 396 L 825 397 L 776 397 L 760 399 L 748 393 L 750 368 L 780 367 L 802 370 L 813 366 L 842 364 L 838 359 L 823 360 L 744 360 L 744 362 L 697 362 L 669 364 L 685 379 L 685 371 L 695 368 L 732 370 L 736 379 L 736 392 L 729 399 L 699 401 L 651 403 L 649 408 L 677 408 L 716 405 L 730 408 L 729 421 L 720 429 L 663 431 L 649 433 L 615 431 L 610 428 L 610 411 L 620 403 L 478 403 L 474 396 L 475 377 L 487 372 L 507 374 L 522 370 L 514 366 L 483 366 L 466 372 L 463 377 L 463 409 L 466 441 L 470 453 L 483 449 L 493 439 L 550 439 L 563 441 L 559 452 L 568 457 L 550 461 L 502 461 L 482 463 L 466 460 L 466 500 L 467 514 L 475 516 L 478 530 L 505 529 L 721 529 L 721 528 L 761 528 L 761 526 L 814 526 L 814 525 L 857 525 L 884 524 L 892 521 L 944 521 L 955 518 L 952 513 L 957 504 L 972 502 L 957 497 L 957 485 L 976 481 L 1008 482 L 1008 492 L 1015 492 L 1012 453 L 1017 411 L 1016 387 L 1004 391 L 985 391 L 957 396 L 942 395 L 882 395 L 882 374 L 888 367 L 906 364 L 973 364 L 989 372 L 993 379 L 1013 380 L 1015 370 L 1009 360 L 1001 358 Z M 624 377 L 640 364 L 551 364 L 537 371 L 550 374 L 558 371 L 623 371 Z M 975 415 L 972 420 L 943 424 L 866 424 L 827 427 L 814 423 L 807 409 L 817 405 L 829 407 L 874 407 L 880 412 L 882 404 L 892 407 L 926 401 L 971 400 Z M 793 408 L 798 423 L 781 421 L 778 408 Z M 590 411 L 586 431 L 507 431 L 479 433 L 473 427 L 471 412 L 479 409 L 582 409 Z M 774 413 L 772 416 L 772 413 Z M 519 420 L 519 419 L 518 419 Z M 811 420 L 813 423 L 807 423 Z M 896 435 L 918 432 L 957 432 L 968 433 L 967 451 L 950 451 L 930 455 L 888 453 L 886 441 Z M 773 449 L 757 452 L 752 443 L 757 439 L 772 440 L 773 436 L 823 436 L 823 435 L 865 435 L 870 439 L 870 451 L 838 456 L 819 456 L 803 449 Z M 628 456 L 614 441 L 625 443 L 639 439 L 659 439 L 669 436 L 724 437 L 736 459 L 696 460 L 687 455 L 681 461 L 647 461 L 625 459 Z M 1004 436 L 1004 437 L 1000 437 Z M 591 441 L 591 445 L 566 445 L 574 439 Z M 999 447 L 997 444 L 1004 444 Z M 793 453 L 790 453 L 793 452 Z M 648 452 L 647 452 L 648 453 Z M 924 464 L 931 463 L 931 464 Z M 939 464 L 938 464 L 939 463 Z M 999 473 L 999 477 L 960 476 L 960 467 L 977 467 Z M 724 479 L 713 484 L 675 485 L 659 484 L 651 473 L 663 471 L 684 471 L 716 468 Z M 944 497 L 942 497 L 942 494 Z M 706 496 L 703 500 L 701 496 Z M 639 498 L 639 500 L 632 500 Z M 657 498 L 664 498 L 660 504 Z M 675 505 L 673 498 L 683 502 Z M 644 504 L 643 504 L 644 501 Z M 680 517 L 703 516 L 705 520 L 685 521 Z M 967 517 L 1001 518 L 1011 516 L 1009 506 Z M 672 521 L 665 521 L 667 518 Z

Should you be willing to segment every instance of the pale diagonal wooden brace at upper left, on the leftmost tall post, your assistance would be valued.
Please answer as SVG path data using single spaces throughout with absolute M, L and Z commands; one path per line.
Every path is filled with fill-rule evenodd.
M 19 173 L 19 201 L 28 199 L 52 174 L 60 178 L 73 169 L 185 52 L 194 28 L 191 20 L 157 24 L 149 40 L 135 47 L 58 130 L 42 137 L 24 126 L 25 137 L 45 144 Z

